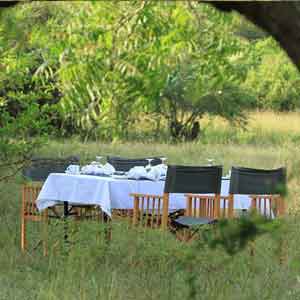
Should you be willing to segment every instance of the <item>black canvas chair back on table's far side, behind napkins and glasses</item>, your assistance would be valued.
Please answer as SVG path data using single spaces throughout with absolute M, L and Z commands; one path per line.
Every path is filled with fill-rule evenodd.
M 152 158 L 152 166 L 156 166 L 162 163 L 161 159 L 158 157 L 147 157 Z M 145 167 L 148 165 L 148 160 L 146 158 L 124 158 L 118 156 L 107 156 L 107 162 L 114 166 L 116 171 L 128 172 L 131 168 L 135 166 Z

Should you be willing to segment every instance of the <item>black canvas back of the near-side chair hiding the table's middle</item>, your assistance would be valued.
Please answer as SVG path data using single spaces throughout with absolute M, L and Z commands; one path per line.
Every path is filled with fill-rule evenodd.
M 168 166 L 165 193 L 220 194 L 221 166 Z

